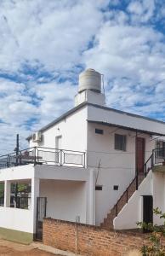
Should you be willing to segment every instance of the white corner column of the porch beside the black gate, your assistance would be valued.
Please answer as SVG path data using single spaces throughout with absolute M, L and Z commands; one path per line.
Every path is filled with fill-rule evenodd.
M 33 219 L 33 233 L 36 233 L 37 197 L 39 196 L 39 178 L 31 178 L 31 214 Z

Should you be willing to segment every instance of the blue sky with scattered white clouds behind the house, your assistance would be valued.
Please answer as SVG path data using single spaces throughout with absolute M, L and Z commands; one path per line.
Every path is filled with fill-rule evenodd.
M 0 154 L 73 107 L 78 74 L 106 105 L 165 121 L 165 2 L 0 0 Z

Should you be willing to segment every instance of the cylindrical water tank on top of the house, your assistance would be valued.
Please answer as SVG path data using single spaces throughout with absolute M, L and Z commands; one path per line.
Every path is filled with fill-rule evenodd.
M 92 68 L 88 68 L 79 75 L 78 92 L 94 90 L 101 92 L 101 74 Z

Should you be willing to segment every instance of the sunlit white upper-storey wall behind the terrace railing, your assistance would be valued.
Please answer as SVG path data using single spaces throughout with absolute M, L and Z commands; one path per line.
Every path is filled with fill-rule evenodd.
M 38 146 L 55 148 L 55 137 L 62 136 L 62 149 L 86 151 L 87 150 L 87 108 L 81 108 L 72 113 L 58 124 L 43 131 L 43 143 Z M 30 147 L 37 143 L 30 141 Z

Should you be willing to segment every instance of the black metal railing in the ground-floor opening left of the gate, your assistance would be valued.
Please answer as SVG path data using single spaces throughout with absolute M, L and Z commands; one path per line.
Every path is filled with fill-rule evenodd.
M 19 209 L 29 209 L 31 207 L 31 197 L 17 196 L 11 197 L 10 207 Z

